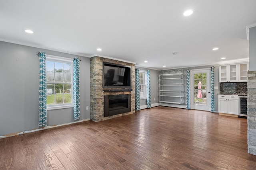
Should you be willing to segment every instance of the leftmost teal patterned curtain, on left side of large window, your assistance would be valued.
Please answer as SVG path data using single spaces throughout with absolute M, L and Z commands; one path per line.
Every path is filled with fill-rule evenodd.
M 39 52 L 39 123 L 38 126 L 47 125 L 46 111 L 46 55 Z

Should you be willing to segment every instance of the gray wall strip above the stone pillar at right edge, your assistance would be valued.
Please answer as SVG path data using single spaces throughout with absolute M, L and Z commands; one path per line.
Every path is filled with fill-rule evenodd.
M 250 63 L 249 63 L 249 70 L 255 71 L 256 70 L 256 27 L 249 28 L 249 39 L 250 39 L 250 48 L 249 48 L 249 56 L 250 56 Z

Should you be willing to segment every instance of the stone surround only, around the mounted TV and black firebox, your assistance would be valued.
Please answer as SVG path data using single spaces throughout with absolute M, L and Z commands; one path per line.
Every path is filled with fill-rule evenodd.
M 102 87 L 103 62 L 131 66 L 132 91 L 108 92 L 108 88 L 103 88 Z M 123 88 L 111 88 L 111 89 L 122 90 Z M 131 94 L 131 111 L 128 113 L 121 113 L 118 115 L 104 117 L 104 96 L 119 95 L 119 94 Z M 123 61 L 116 61 L 113 59 L 107 59 L 107 58 L 98 57 L 98 56 L 92 57 L 90 59 L 90 119 L 92 121 L 98 122 L 98 121 L 104 121 L 107 119 L 112 119 L 112 118 L 120 117 L 124 115 L 130 115 L 133 113 L 135 113 L 135 64 L 127 63 Z

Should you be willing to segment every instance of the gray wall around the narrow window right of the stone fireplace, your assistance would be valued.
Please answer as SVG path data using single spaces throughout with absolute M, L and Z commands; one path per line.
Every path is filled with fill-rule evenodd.
M 158 103 L 158 70 L 137 67 L 137 66 L 135 66 L 135 68 L 139 68 L 140 70 L 145 70 L 145 71 L 150 70 L 151 104 Z M 140 106 L 145 106 L 145 105 L 147 105 L 147 100 L 146 99 L 140 100 Z

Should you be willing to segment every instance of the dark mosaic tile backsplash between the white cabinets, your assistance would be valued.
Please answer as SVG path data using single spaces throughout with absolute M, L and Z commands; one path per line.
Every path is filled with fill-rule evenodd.
M 220 83 L 220 93 L 247 94 L 247 82 Z

